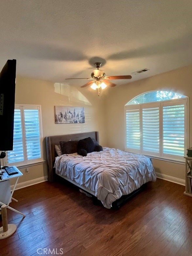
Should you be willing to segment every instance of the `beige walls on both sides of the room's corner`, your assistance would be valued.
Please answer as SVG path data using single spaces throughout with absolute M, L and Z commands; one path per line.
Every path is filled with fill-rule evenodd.
M 16 78 L 16 104 L 37 104 L 42 107 L 43 136 L 70 134 L 86 131 L 99 131 L 100 144 L 124 150 L 124 105 L 137 95 L 152 90 L 173 90 L 192 97 L 192 66 L 173 70 L 161 75 L 135 81 L 121 86 L 107 88 L 103 95 L 97 96 L 92 89 L 75 88 L 52 82 L 29 78 Z M 102 93 L 102 92 L 101 92 Z M 84 106 L 85 124 L 55 124 L 54 106 Z M 192 132 L 192 112 L 190 129 Z M 190 137 L 192 147 L 192 136 Z M 45 148 L 44 148 L 45 150 Z M 184 165 L 161 160 L 153 160 L 157 172 L 184 179 Z M 24 174 L 20 180 L 26 182 L 47 175 L 46 162 L 20 168 Z

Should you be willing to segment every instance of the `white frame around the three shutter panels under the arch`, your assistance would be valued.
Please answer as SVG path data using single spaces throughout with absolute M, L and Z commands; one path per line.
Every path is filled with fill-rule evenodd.
M 186 149 L 188 148 L 189 145 L 189 104 L 188 104 L 188 97 L 186 98 L 181 98 L 181 99 L 173 99 L 173 100 L 167 100 L 167 101 L 161 101 L 161 102 L 151 102 L 151 103 L 142 103 L 142 104 L 135 104 L 135 105 L 125 105 L 124 106 L 124 123 L 125 123 L 125 151 L 129 151 L 132 153 L 141 153 L 145 154 L 147 156 L 152 156 L 155 159 L 160 159 L 160 160 L 166 160 L 170 162 L 180 162 L 184 163 L 184 156 L 177 156 L 177 155 L 170 155 L 170 154 L 165 154 L 163 153 L 163 106 L 171 106 L 171 105 L 184 105 L 185 107 L 185 116 L 184 116 L 184 156 L 186 155 Z M 142 131 L 142 109 L 143 108 L 150 108 L 150 107 L 155 107 L 159 105 L 159 128 L 160 128 L 160 152 L 159 154 L 155 152 L 148 152 L 148 151 L 143 151 L 142 147 L 142 136 L 143 136 L 143 131 Z M 134 109 L 140 109 L 140 150 L 135 150 L 131 148 L 127 148 L 126 145 L 126 132 L 127 132 L 127 127 L 126 127 L 126 110 L 134 110 Z

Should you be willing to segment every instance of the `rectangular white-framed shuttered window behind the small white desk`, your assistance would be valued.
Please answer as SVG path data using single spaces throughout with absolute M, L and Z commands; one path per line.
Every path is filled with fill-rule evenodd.
M 22 166 L 43 160 L 40 105 L 15 105 L 13 150 L 7 152 L 6 164 Z

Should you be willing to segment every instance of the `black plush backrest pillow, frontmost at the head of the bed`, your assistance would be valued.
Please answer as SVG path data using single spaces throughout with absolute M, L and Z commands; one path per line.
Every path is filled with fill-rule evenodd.
M 82 156 L 86 156 L 87 153 L 93 152 L 95 149 L 95 144 L 91 137 L 85 138 L 83 140 L 79 140 L 78 143 L 78 154 Z

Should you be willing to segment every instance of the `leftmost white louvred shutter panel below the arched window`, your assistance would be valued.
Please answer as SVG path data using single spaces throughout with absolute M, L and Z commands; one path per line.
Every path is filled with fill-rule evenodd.
M 139 152 L 140 145 L 140 109 L 129 109 L 126 112 L 126 149 Z M 131 106 L 132 107 L 132 106 Z

